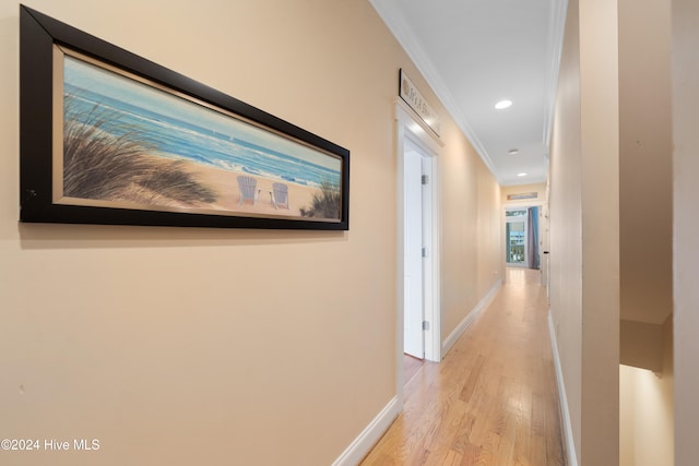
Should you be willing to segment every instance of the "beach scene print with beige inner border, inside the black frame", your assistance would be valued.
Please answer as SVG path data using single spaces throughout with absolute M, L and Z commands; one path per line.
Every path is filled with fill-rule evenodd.
M 60 57 L 55 203 L 342 220 L 342 157 L 76 52 Z

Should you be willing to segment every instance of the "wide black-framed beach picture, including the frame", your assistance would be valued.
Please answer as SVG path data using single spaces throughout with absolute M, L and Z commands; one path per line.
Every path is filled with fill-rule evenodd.
M 22 222 L 348 229 L 350 151 L 21 7 Z

